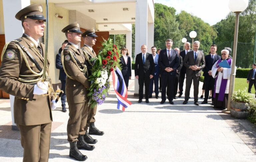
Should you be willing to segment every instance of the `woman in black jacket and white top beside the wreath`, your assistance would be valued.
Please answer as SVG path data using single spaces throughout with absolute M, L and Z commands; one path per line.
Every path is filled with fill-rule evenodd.
M 121 63 L 121 72 L 124 78 L 124 82 L 126 85 L 126 88 L 128 89 L 129 79 L 131 79 L 132 76 L 132 67 L 131 67 L 131 57 L 128 56 L 129 52 L 128 49 L 123 47 L 121 49 L 122 56 L 120 57 L 120 63 Z

